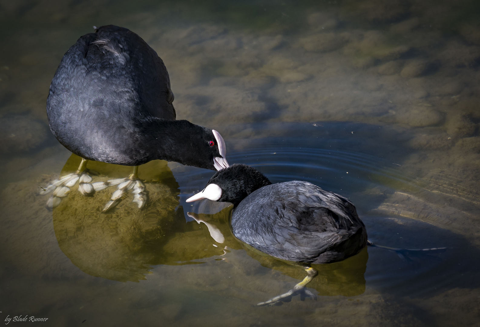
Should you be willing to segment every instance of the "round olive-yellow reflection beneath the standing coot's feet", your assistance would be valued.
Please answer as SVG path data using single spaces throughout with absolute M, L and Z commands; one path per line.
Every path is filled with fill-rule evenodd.
M 62 175 L 75 171 L 80 158 L 72 155 Z M 88 168 L 107 180 L 128 176 L 131 167 L 90 161 Z M 108 177 L 106 177 L 108 176 Z M 142 166 L 139 178 L 147 181 L 150 203 L 144 210 L 125 198 L 107 214 L 101 211 L 112 188 L 85 197 L 76 186 L 60 206 L 53 209 L 53 227 L 60 249 L 85 273 L 118 281 L 145 279 L 151 265 L 162 261 L 160 251 L 172 231 L 182 224 L 178 207 L 178 184 L 166 161 Z

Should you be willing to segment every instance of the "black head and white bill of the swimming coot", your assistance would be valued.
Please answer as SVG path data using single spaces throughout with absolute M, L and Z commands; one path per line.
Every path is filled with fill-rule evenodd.
M 187 202 L 209 199 L 230 202 L 238 206 L 241 200 L 253 191 L 270 184 L 268 178 L 255 168 L 234 164 L 217 171 L 207 182 L 204 190 L 187 199 Z

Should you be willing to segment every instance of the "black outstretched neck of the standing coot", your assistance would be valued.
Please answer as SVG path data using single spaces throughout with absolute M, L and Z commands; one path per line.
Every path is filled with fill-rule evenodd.
M 148 160 L 163 159 L 214 170 L 211 158 L 201 151 L 207 128 L 185 120 L 149 117 L 139 122 L 139 129 L 145 136 L 141 146 Z

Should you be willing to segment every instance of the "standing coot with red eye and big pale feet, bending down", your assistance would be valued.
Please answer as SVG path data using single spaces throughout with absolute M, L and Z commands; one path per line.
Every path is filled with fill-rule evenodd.
M 95 33 L 80 37 L 65 53 L 50 85 L 50 129 L 84 160 L 76 173 L 43 191 L 55 190 L 48 206 L 58 205 L 80 181 L 84 195 L 119 185 L 104 211 L 130 189 L 141 207 L 147 196 L 137 166 L 155 159 L 211 170 L 228 167 L 220 133 L 175 120 L 167 68 L 155 50 L 127 28 L 94 28 Z M 87 160 L 135 167 L 128 178 L 90 183 Z

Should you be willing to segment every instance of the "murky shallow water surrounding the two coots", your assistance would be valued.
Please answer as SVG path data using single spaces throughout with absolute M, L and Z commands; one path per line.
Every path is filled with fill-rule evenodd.
M 1 321 L 480 326 L 479 14 L 475 1 L 0 1 Z M 101 214 L 112 189 L 76 188 L 48 211 L 39 186 L 79 162 L 48 129 L 48 86 L 103 24 L 157 51 L 177 118 L 218 130 L 230 164 L 347 196 L 374 243 L 448 249 L 368 248 L 316 267 L 317 301 L 254 307 L 305 273 L 237 241 L 231 207 L 185 203 L 212 171 L 155 161 L 140 167 L 142 211 L 127 197 Z M 90 165 L 97 180 L 129 173 Z

